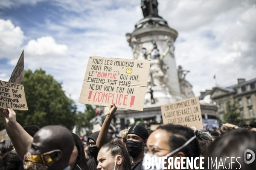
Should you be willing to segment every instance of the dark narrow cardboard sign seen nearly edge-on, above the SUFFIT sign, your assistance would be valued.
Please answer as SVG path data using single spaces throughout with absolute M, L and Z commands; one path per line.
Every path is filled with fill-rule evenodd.
M 18 60 L 14 70 L 12 71 L 11 78 L 9 79 L 9 82 L 20 84 L 22 82 L 22 79 L 24 77 L 24 50 L 22 51 L 20 55 L 20 59 Z

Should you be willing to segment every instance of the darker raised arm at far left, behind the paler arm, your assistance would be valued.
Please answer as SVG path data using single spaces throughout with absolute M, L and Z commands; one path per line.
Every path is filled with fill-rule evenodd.
M 2 110 L 6 111 L 5 109 Z M 23 159 L 24 155 L 26 154 L 26 151 L 24 150 L 23 146 L 21 145 L 19 139 L 17 138 L 17 136 L 14 134 L 14 132 L 12 131 L 11 127 L 6 123 L 6 119 L 5 117 L 3 117 L 3 124 L 4 127 L 6 128 L 6 132 L 9 136 L 9 138 L 12 141 L 12 145 L 15 148 L 17 154 Z

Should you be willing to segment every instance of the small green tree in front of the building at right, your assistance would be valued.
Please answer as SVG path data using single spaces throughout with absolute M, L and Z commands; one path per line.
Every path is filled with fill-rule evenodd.
M 230 101 L 226 103 L 224 122 L 231 123 L 233 125 L 240 125 L 243 122 L 239 111 L 239 104 L 236 100 L 232 104 L 230 103 Z

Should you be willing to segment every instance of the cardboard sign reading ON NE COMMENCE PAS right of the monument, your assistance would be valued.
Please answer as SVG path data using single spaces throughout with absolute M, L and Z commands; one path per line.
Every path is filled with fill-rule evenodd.
M 199 98 L 181 100 L 161 106 L 163 124 L 178 124 L 203 129 Z

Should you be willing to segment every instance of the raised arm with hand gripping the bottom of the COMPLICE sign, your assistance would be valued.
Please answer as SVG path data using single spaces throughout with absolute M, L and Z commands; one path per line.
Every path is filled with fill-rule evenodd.
M 110 126 L 112 117 L 113 117 L 113 115 L 116 112 L 116 109 L 117 108 L 116 108 L 115 104 L 112 104 L 111 108 L 108 108 L 108 113 L 107 113 L 106 119 L 103 122 L 102 128 L 99 131 L 98 139 L 96 141 L 96 146 L 98 147 L 99 150 L 107 141 L 107 138 L 108 138 L 108 128 Z

